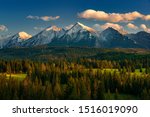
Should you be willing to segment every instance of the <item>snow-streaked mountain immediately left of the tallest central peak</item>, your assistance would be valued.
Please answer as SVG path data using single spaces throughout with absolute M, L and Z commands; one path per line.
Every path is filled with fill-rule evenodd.
M 58 28 L 57 26 L 48 27 L 39 34 L 33 36 L 26 42 L 24 42 L 23 46 L 38 46 L 51 43 L 53 39 L 60 38 L 65 33 L 65 30 L 62 28 Z

